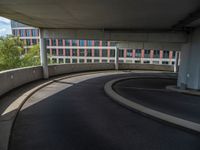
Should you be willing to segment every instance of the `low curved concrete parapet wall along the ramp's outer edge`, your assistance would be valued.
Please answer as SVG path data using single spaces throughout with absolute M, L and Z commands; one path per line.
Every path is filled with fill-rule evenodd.
M 115 64 L 113 63 L 97 63 L 97 64 L 63 64 L 63 65 L 50 65 L 50 77 L 75 73 L 84 71 L 100 71 L 100 70 L 114 70 Z M 172 66 L 168 65 L 150 65 L 150 64 L 119 64 L 119 69 L 122 70 L 162 70 L 173 71 Z M 0 96 L 6 92 L 21 86 L 23 84 L 36 81 L 43 78 L 42 67 L 30 67 L 13 69 L 0 72 Z

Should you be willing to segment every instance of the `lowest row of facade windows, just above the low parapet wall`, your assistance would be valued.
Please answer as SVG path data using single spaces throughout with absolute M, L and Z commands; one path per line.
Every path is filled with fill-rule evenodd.
M 92 61 L 92 59 L 76 59 L 76 58 L 73 58 L 73 59 L 70 59 L 70 58 L 66 58 L 66 59 L 63 59 L 63 58 L 58 58 L 58 59 L 57 58 L 52 58 L 52 60 L 51 60 L 51 63 L 53 63 L 53 64 L 55 64 L 55 63 L 59 63 L 59 64 L 63 64 L 63 63 L 66 63 L 66 64 L 68 64 L 68 63 L 92 63 L 92 62 L 100 63 L 100 60 L 99 59 L 94 59 Z M 115 60 L 102 59 L 101 62 L 102 63 L 114 63 Z M 130 60 L 126 60 L 126 61 L 119 60 L 119 63 L 124 63 L 124 62 L 132 63 L 132 61 L 130 61 Z M 134 63 L 141 64 L 142 62 L 140 60 L 135 60 Z M 159 61 L 153 61 L 152 63 L 153 64 L 159 64 L 160 62 Z M 169 61 L 162 61 L 161 63 L 163 65 L 169 65 L 170 64 Z M 174 65 L 174 63 L 175 62 L 172 61 L 171 64 Z M 150 64 L 150 61 L 149 60 L 145 60 L 145 61 L 143 61 L 143 64 Z

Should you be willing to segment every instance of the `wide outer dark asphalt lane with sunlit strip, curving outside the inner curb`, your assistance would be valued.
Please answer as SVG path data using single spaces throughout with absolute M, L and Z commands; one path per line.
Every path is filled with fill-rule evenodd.
M 146 118 L 105 95 L 118 77 L 99 73 L 53 83 L 20 111 L 10 150 L 199 150 L 200 137 Z

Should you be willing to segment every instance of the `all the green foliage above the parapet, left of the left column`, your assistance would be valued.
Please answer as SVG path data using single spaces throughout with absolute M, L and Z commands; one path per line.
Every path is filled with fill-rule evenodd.
M 18 37 L 0 38 L 0 71 L 39 64 L 38 45 L 33 46 L 25 53 L 23 42 Z

